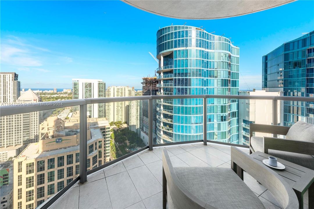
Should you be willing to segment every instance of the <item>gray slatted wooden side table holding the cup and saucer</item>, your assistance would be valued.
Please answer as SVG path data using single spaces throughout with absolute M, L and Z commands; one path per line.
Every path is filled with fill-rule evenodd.
M 265 154 L 259 151 L 250 155 L 254 159 L 257 159 L 259 161 L 263 161 L 263 159 L 268 159 L 268 157 L 271 156 L 269 154 Z M 277 161 L 284 164 L 284 170 L 278 170 L 270 167 L 269 168 L 282 176 L 284 180 L 287 181 L 289 185 L 291 185 L 292 189 L 295 191 L 296 196 L 298 197 L 299 208 L 303 209 L 303 195 L 308 189 L 309 209 L 314 209 L 314 170 L 305 168 L 303 166 L 291 163 L 280 158 L 277 158 Z

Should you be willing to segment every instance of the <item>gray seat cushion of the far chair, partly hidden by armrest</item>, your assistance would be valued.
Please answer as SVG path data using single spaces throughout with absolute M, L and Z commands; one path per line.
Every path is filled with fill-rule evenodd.
M 255 152 L 256 151 L 264 152 L 263 137 L 252 136 L 251 145 Z M 284 152 L 273 149 L 268 149 L 268 154 L 314 170 L 314 157 L 312 155 Z

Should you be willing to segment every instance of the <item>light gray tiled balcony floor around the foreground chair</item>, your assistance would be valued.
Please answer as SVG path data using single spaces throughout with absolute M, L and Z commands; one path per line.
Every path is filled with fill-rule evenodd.
M 88 176 L 87 183 L 74 185 L 50 208 L 162 208 L 163 149 L 145 150 Z M 199 143 L 171 146 L 167 150 L 174 167 L 211 165 L 231 169 L 230 146 Z M 279 209 L 270 192 L 246 172 L 244 182 L 266 208 Z M 306 195 L 307 192 L 304 208 L 308 208 Z M 90 196 L 95 198 L 86 198 Z

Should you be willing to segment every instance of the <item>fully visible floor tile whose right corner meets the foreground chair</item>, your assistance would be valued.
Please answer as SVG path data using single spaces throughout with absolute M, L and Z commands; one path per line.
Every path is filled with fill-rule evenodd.
M 135 185 L 138 194 L 143 199 L 153 196 L 162 191 L 162 186 L 150 170 L 143 165 L 127 171 Z M 143 178 L 145 176 L 145 178 Z

